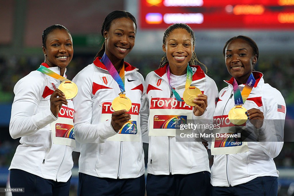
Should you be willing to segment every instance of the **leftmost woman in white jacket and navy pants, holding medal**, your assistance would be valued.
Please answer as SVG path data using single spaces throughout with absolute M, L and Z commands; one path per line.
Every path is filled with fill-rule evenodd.
M 42 39 L 45 61 L 41 70 L 66 80 L 66 66 L 74 52 L 70 32 L 62 25 L 52 25 L 44 30 Z M 60 128 L 70 127 L 72 132 L 61 137 L 74 141 L 74 105 L 57 89 L 61 81 L 39 69 L 14 86 L 9 132 L 12 138 L 21 138 L 21 145 L 9 167 L 10 187 L 24 188 L 13 195 L 69 195 L 74 147 L 53 143 L 51 124 L 65 120 Z

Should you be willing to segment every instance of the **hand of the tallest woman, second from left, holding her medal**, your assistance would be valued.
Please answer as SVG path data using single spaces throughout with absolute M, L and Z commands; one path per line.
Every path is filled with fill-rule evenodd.
M 111 115 L 111 126 L 117 133 L 125 123 L 131 120 L 131 115 L 126 113 L 127 110 L 118 110 Z

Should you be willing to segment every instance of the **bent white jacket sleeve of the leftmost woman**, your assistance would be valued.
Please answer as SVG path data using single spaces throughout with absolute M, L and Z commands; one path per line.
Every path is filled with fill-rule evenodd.
M 57 118 L 51 113 L 50 105 L 36 113 L 44 89 L 44 81 L 36 82 L 36 78 L 26 76 L 14 86 L 14 101 L 11 109 L 9 133 L 13 139 L 32 135 Z

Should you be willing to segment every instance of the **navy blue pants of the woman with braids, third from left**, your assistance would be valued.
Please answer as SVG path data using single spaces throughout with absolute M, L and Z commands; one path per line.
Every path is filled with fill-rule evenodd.
M 210 173 L 207 171 L 193 174 L 147 175 L 147 196 L 209 196 Z

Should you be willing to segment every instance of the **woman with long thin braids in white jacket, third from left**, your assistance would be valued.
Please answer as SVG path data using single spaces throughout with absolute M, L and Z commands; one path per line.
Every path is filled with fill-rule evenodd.
M 193 30 L 182 23 L 171 25 L 163 36 L 165 55 L 160 67 L 146 77 L 150 113 L 148 196 L 210 193 L 208 153 L 199 136 L 202 130 L 179 130 L 187 122 L 196 125 L 211 119 L 218 94 L 216 83 L 196 65 L 200 62 L 194 48 Z M 192 107 L 182 97 L 185 89 L 195 86 L 201 92 L 192 100 L 197 104 Z M 198 135 L 191 140 L 182 138 L 191 133 Z

